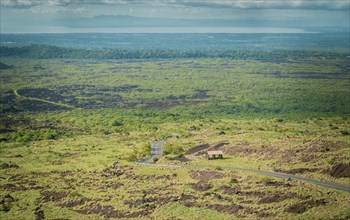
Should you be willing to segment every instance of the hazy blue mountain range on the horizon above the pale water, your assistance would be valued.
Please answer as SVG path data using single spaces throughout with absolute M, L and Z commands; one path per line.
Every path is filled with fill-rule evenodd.
M 57 18 L 54 26 L 68 28 L 139 28 L 139 27 L 269 27 L 297 28 L 310 32 L 348 32 L 348 27 L 317 26 L 305 21 L 266 21 L 259 19 L 174 19 L 157 17 L 134 17 L 129 15 L 99 15 L 95 17 Z M 312 28 L 311 28 L 312 27 Z

